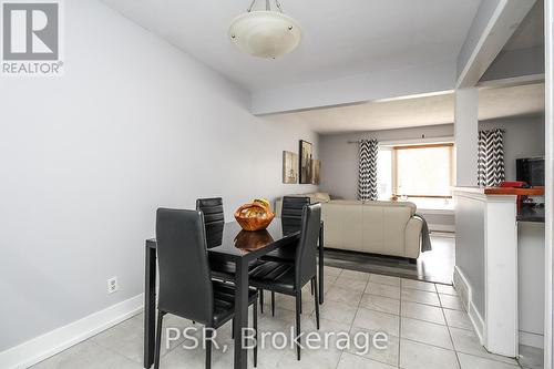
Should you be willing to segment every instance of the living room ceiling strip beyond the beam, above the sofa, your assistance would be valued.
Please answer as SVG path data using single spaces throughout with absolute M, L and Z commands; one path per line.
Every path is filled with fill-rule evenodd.
M 480 120 L 538 114 L 544 112 L 544 84 L 483 89 L 479 100 Z M 369 102 L 277 116 L 295 116 L 324 134 L 435 125 L 454 121 L 454 94 Z

